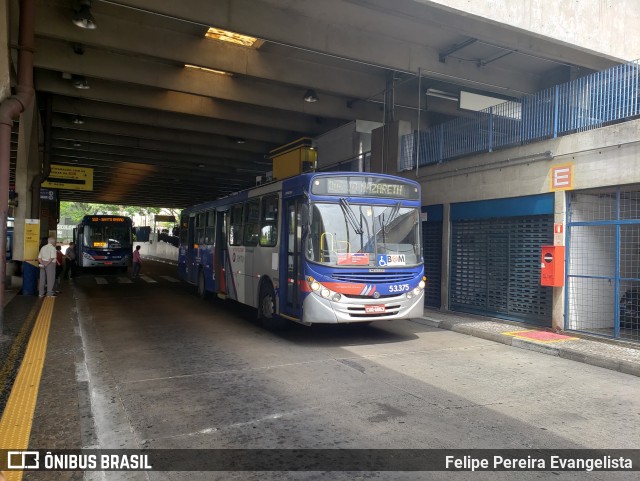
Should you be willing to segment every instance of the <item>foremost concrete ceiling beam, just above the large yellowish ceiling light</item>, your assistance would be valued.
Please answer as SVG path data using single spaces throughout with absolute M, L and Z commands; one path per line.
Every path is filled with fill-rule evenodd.
M 209 0 L 179 3 L 117 0 L 117 3 L 401 72 L 417 74 L 421 69 L 423 75 L 430 78 L 476 88 L 482 86 L 507 95 L 535 92 L 540 82 L 536 75 L 507 72 L 495 64 L 478 69 L 468 62 L 441 63 L 438 50 L 420 43 L 421 38 L 402 39 L 402 32 L 389 31 L 385 21 L 388 16 L 365 8 L 349 13 L 346 2 L 300 0 L 287 2 L 284 8 L 280 0 L 221 0 L 214 3 Z M 319 17 L 319 14 L 327 18 Z M 408 21 L 405 19 L 405 23 Z M 415 30 L 415 24 L 408 25 Z

